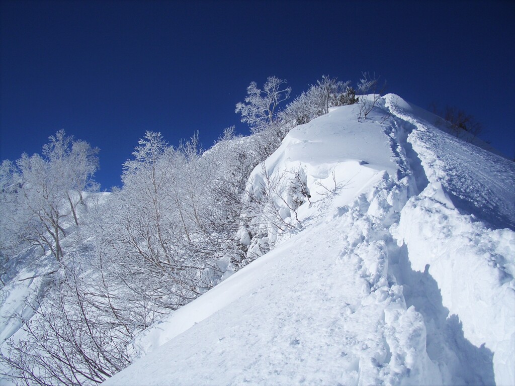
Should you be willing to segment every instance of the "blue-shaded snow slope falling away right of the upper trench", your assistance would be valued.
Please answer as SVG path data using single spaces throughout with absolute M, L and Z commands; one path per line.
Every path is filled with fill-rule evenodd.
M 414 116 L 420 109 L 396 95 L 387 95 L 385 105 L 403 122 L 407 143 L 423 166 L 414 168 L 416 174 L 423 172 L 429 181 L 440 182 L 465 213 L 497 229 L 515 230 L 515 163 L 437 129 L 430 113 Z

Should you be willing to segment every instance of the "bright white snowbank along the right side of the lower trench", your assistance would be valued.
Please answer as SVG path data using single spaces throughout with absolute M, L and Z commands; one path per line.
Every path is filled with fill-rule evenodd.
M 397 237 L 407 245 L 413 269 L 438 283 L 442 304 L 462 322 L 464 336 L 493 352 L 497 384 L 515 379 L 515 234 L 490 230 L 460 215 L 428 186 L 404 206 Z

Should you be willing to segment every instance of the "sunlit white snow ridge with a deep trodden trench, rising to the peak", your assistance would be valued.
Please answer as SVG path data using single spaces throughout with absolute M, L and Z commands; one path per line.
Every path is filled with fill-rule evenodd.
M 296 127 L 254 170 L 256 192 L 302 170 L 310 200 L 280 211 L 300 225 L 105 384 L 515 383 L 513 163 L 398 96 L 356 116 Z

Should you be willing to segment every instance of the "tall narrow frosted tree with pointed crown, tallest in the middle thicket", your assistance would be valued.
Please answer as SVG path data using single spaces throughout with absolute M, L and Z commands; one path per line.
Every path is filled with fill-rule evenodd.
M 197 296 L 190 277 L 197 264 L 186 253 L 194 226 L 185 204 L 185 159 L 154 132 L 146 133 L 133 156 L 124 164 L 124 187 L 114 195 L 111 221 L 115 229 L 123 227 L 112 244 L 124 261 L 125 284 L 153 302 L 154 311 L 175 309 Z M 144 271 L 134 274 L 138 267 Z

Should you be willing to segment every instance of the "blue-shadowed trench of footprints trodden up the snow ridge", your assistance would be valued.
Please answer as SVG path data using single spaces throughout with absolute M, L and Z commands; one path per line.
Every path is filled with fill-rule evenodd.
M 418 196 L 430 184 L 419 154 L 408 141 L 417 129 L 410 122 L 393 117 L 385 131 L 392 138 L 392 147 L 399 148 L 394 152 L 399 163 L 398 179 L 409 182 L 406 190 L 411 197 Z M 397 222 L 392 229 L 395 233 Z M 413 306 L 422 314 L 427 354 L 438 364 L 443 383 L 494 384 L 492 352 L 484 346 L 474 346 L 464 337 L 459 318 L 450 315 L 449 309 L 443 306 L 438 283 L 428 272 L 429 266 L 413 270 L 405 244 L 401 247 L 388 244 L 388 250 L 389 280 L 402 286 L 406 306 Z

